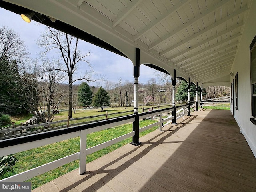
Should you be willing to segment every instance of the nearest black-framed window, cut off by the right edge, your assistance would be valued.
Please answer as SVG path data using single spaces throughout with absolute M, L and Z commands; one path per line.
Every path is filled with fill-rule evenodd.
M 250 45 L 252 122 L 256 124 L 256 36 Z

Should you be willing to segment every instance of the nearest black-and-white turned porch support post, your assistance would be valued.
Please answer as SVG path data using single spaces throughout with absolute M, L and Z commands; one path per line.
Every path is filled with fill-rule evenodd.
M 139 82 L 139 76 L 140 76 L 140 49 L 136 48 L 136 61 L 135 66 L 133 66 L 133 76 L 134 76 L 134 115 L 135 120 L 132 123 L 132 130 L 135 132 L 135 135 L 132 136 L 132 145 L 138 146 L 141 145 L 141 142 L 139 142 L 139 112 L 138 112 L 138 82 Z

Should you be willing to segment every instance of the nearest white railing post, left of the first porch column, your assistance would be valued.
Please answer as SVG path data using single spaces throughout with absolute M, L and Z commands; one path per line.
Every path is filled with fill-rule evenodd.
M 80 132 L 80 160 L 79 160 L 79 174 L 86 172 L 86 148 L 87 148 L 87 130 Z

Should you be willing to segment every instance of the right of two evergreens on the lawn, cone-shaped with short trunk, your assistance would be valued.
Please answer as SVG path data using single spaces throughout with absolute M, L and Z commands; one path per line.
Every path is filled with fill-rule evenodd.
M 98 92 L 96 92 L 92 98 L 92 105 L 94 107 L 100 106 L 101 111 L 103 111 L 104 106 L 110 105 L 110 96 L 104 88 L 100 87 Z

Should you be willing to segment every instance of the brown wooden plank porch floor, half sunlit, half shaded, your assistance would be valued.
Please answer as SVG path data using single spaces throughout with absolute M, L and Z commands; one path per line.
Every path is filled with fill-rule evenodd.
M 229 110 L 178 120 L 34 192 L 255 192 L 256 158 Z

